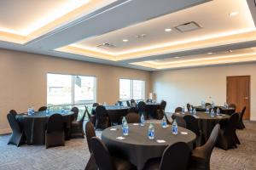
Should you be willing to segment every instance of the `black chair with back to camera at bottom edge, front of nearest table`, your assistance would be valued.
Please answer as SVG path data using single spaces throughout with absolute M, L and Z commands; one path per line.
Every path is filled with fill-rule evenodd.
M 177 142 L 166 148 L 161 159 L 149 160 L 144 170 L 186 170 L 190 155 L 189 145 L 184 142 Z

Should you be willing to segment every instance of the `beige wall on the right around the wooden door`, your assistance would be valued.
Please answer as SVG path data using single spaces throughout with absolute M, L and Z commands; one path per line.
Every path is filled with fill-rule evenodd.
M 256 64 L 156 71 L 152 74 L 153 91 L 158 100 L 166 99 L 166 111 L 187 103 L 201 105 L 202 100 L 224 105 L 226 77 L 242 75 L 251 76 L 251 120 L 256 120 Z

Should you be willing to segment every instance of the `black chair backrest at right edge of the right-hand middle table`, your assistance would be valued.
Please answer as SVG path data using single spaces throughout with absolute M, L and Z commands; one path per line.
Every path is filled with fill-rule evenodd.
M 238 122 L 239 122 L 239 114 L 233 113 L 230 116 L 229 121 L 225 124 L 224 133 L 227 135 L 232 135 L 236 131 Z

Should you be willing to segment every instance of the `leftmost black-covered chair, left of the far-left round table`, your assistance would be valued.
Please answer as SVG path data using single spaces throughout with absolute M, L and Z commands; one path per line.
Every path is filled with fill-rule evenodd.
M 25 133 L 20 128 L 20 124 L 16 120 L 16 115 L 17 112 L 15 110 L 11 110 L 9 111 L 9 114 L 7 114 L 9 126 L 13 131 L 8 144 L 15 144 L 17 147 L 19 147 L 21 144 L 25 143 Z

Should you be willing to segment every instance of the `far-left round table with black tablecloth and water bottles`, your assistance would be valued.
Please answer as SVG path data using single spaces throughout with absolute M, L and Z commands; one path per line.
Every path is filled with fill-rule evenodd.
M 47 127 L 48 118 L 52 114 L 61 114 L 65 123 L 65 137 L 70 139 L 70 127 L 73 121 L 73 111 L 67 111 L 61 113 L 61 111 L 38 111 L 33 115 L 27 115 L 21 113 L 16 116 L 17 121 L 20 123 L 20 127 L 24 130 L 26 135 L 26 144 L 44 144 L 45 143 L 45 130 Z

